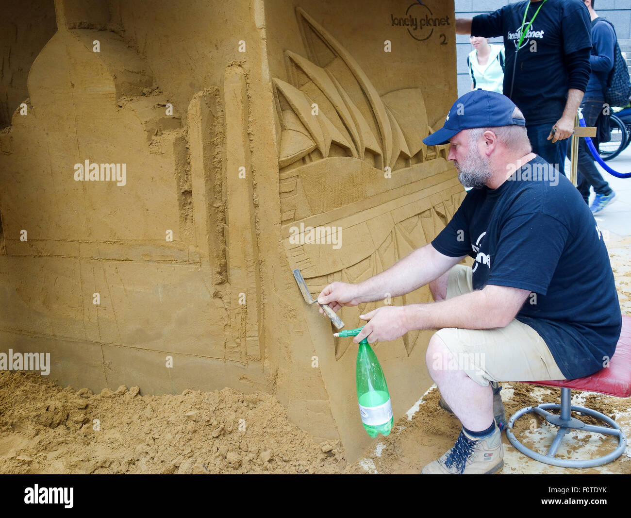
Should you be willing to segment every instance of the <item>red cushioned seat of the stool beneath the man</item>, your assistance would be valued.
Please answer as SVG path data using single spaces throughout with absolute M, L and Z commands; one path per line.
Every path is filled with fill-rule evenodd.
M 589 376 L 572 380 L 524 381 L 523 383 L 567 387 L 616 397 L 631 396 L 631 317 L 622 317 L 622 332 L 609 367 L 601 368 Z

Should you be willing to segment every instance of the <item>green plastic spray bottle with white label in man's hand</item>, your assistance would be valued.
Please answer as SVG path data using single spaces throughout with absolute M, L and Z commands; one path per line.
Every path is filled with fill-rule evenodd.
M 339 331 L 333 336 L 343 338 L 357 336 L 362 329 L 363 326 L 348 331 Z M 377 437 L 379 433 L 389 435 L 394 417 L 392 416 L 392 404 L 390 403 L 386 377 L 381 370 L 377 356 L 365 338 L 359 343 L 355 377 L 363 428 L 370 437 Z

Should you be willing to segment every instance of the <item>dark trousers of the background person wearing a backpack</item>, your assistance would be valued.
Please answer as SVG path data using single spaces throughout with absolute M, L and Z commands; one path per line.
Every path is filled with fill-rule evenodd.
M 596 126 L 596 120 L 603 109 L 603 103 L 604 99 L 589 98 L 582 100 L 581 109 L 585 119 L 585 126 Z M 598 135 L 598 131 L 596 131 L 596 134 Z M 598 137 L 592 138 L 592 141 L 596 149 L 598 149 Z M 571 150 L 567 150 L 567 158 L 570 158 L 570 152 Z M 603 194 L 603 196 L 608 196 L 612 192 L 609 184 L 604 181 L 602 175 L 596 169 L 594 156 L 589 151 L 587 141 L 584 138 L 579 138 L 576 182 L 577 189 L 579 189 L 585 203 L 589 203 L 589 187 L 594 187 L 594 192 Z

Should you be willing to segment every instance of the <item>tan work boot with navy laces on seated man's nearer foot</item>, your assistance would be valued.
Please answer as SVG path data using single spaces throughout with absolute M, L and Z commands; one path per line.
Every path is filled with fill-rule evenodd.
M 437 461 L 430 462 L 421 474 L 492 474 L 504 468 L 504 447 L 502 432 L 497 425 L 492 435 L 476 439 L 468 435 L 464 428 L 451 450 Z

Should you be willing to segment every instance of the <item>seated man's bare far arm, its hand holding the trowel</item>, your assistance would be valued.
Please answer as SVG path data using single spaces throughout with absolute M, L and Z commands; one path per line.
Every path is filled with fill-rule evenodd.
M 338 311 L 344 305 L 355 306 L 362 302 L 382 300 L 387 294 L 398 297 L 439 278 L 464 257 L 445 256 L 428 243 L 361 283 L 329 284 L 318 295 L 318 302 L 329 304 L 331 309 Z

